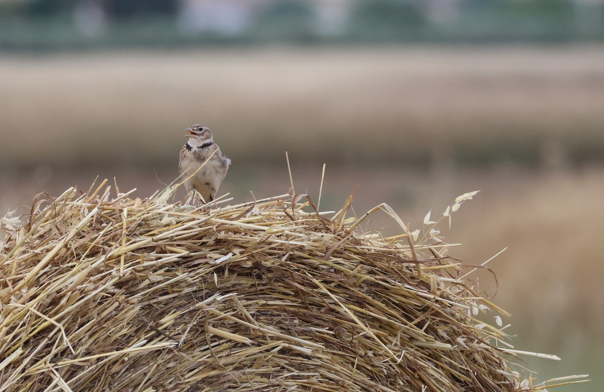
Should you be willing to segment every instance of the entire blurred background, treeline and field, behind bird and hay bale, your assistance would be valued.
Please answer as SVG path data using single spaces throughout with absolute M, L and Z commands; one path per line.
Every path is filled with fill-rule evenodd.
M 220 5 L 222 4 L 222 5 Z M 377 6 L 376 6 L 377 4 Z M 453 215 L 452 255 L 543 381 L 604 382 L 599 1 L 0 1 L 0 208 L 97 176 L 149 196 L 209 126 L 236 201 L 294 185 L 338 210 Z M 181 197 L 184 193 L 181 192 Z M 25 213 L 25 210 L 23 210 Z M 376 216 L 368 228 L 397 228 Z M 446 223 L 441 225 L 444 230 Z M 495 292 L 493 278 L 475 275 Z

